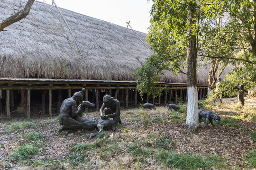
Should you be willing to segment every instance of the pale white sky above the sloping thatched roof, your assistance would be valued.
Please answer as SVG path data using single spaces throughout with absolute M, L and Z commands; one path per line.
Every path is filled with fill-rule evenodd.
M 38 0 L 52 4 L 52 0 Z M 150 9 L 153 2 L 150 0 L 55 0 L 60 8 L 65 8 L 80 14 L 108 21 L 127 27 L 130 26 L 143 33 L 147 33 L 150 26 Z

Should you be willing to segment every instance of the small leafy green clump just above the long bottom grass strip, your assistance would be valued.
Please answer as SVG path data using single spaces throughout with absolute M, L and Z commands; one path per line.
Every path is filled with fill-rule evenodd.
M 160 136 L 154 143 L 154 148 L 163 148 L 165 150 L 173 150 L 175 146 L 174 141 L 171 140 L 170 136 Z

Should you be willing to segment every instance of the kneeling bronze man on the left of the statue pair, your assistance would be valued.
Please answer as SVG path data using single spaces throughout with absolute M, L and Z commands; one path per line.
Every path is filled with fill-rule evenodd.
M 82 93 L 76 92 L 70 98 L 65 99 L 60 107 L 59 122 L 63 127 L 60 130 L 66 129 L 82 129 L 82 124 L 76 121 L 74 118 L 79 113 L 76 111 L 76 105 L 82 102 Z

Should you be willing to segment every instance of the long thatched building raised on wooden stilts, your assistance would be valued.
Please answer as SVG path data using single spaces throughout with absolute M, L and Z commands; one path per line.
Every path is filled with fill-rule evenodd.
M 0 20 L 26 3 L 0 0 Z M 126 107 L 140 99 L 132 73 L 153 54 L 145 45 L 146 34 L 37 1 L 26 18 L 6 30 L 0 32 L 0 110 L 5 106 L 9 119 L 17 107 L 29 117 L 30 102 L 42 103 L 42 112 L 52 116 L 52 104 L 58 112 L 62 100 L 82 87 L 85 100 L 97 109 L 105 93 Z M 157 102 L 177 102 L 177 95 L 185 99 L 186 81 L 186 75 L 165 72 L 159 85 L 170 90 Z M 207 87 L 207 69 L 200 70 L 198 84 Z

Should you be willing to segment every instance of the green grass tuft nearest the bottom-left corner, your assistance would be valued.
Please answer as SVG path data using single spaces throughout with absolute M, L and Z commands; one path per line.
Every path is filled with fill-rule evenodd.
M 24 146 L 19 146 L 16 151 L 14 151 L 10 157 L 12 160 L 21 160 L 21 159 L 27 159 L 28 156 L 34 155 L 38 152 L 38 148 L 36 146 L 33 146 L 31 144 L 27 144 Z

